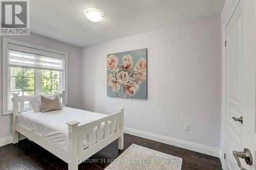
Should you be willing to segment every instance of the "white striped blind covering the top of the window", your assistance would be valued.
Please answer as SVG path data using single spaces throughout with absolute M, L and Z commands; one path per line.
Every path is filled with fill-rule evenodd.
M 63 71 L 64 56 L 36 48 L 8 44 L 9 66 Z

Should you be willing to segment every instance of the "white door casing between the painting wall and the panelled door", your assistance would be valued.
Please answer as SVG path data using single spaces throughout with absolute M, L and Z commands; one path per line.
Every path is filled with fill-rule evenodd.
M 226 1 L 221 13 L 221 149 L 220 160 L 225 169 L 224 154 L 226 151 L 226 26 L 240 0 Z

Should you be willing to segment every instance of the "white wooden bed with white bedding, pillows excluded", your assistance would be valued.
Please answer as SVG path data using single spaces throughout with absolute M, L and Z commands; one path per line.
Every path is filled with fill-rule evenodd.
M 65 100 L 65 91 L 59 95 Z M 118 149 L 123 149 L 124 108 L 111 115 L 70 107 L 24 112 L 26 101 L 26 96 L 13 94 L 13 143 L 18 142 L 20 133 L 67 162 L 72 170 L 78 169 L 78 160 L 88 159 L 116 139 Z

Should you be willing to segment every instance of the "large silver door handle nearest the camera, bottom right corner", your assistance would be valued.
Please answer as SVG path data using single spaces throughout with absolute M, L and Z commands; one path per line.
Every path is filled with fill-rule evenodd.
M 248 165 L 252 164 L 251 152 L 247 148 L 244 149 L 244 152 L 233 151 L 233 156 L 234 158 L 236 158 L 238 162 L 238 166 L 240 167 L 241 170 L 246 170 L 246 169 L 242 166 L 239 158 L 245 159 L 245 162 Z

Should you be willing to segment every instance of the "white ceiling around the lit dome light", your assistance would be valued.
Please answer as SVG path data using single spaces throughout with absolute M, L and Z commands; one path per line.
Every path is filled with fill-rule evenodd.
M 83 47 L 219 15 L 225 0 L 31 0 L 31 32 Z M 94 23 L 85 10 L 104 13 Z

